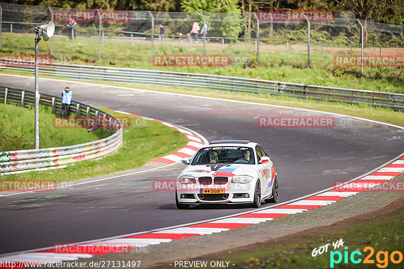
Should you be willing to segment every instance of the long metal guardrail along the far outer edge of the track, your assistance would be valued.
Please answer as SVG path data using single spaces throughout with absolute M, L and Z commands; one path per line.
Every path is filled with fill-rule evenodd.
M 351 104 L 365 103 L 379 107 L 388 107 L 394 110 L 404 110 L 404 94 L 388 92 L 352 90 L 228 76 L 92 65 L 63 63 L 40 63 L 40 65 L 39 73 L 42 75 L 66 77 L 82 81 L 102 80 L 131 84 L 182 86 L 257 94 L 264 93 L 304 99 L 310 98 L 319 101 L 334 101 Z M 0 58 L 0 70 L 1 68 L 15 72 L 34 73 L 34 64 L 32 62 L 17 60 L 10 62 L 10 59 L 7 58 Z

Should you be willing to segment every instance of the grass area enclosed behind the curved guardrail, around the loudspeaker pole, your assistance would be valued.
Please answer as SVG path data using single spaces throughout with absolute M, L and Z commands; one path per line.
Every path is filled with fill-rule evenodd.
M 33 108 L 0 104 L 0 151 L 34 149 Z M 55 128 L 49 107 L 39 107 L 39 148 L 52 148 L 76 145 L 109 137 L 104 129 L 87 132 L 87 129 Z

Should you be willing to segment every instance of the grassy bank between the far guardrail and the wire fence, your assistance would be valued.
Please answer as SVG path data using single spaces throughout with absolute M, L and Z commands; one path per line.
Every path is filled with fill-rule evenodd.
M 32 54 L 33 36 L 5 35 L 3 38 L 2 55 Z M 105 40 L 102 45 L 102 59 L 97 60 L 98 39 L 77 38 L 70 40 L 64 36 L 54 38 L 54 62 L 75 64 L 91 64 L 99 66 L 115 66 L 122 68 L 153 69 L 175 72 L 190 72 L 201 74 L 226 75 L 235 77 L 256 78 L 274 81 L 295 82 L 320 86 L 333 86 L 350 89 L 371 91 L 387 91 L 404 93 L 404 68 L 365 68 L 365 74 L 360 75 L 360 68 L 339 68 L 333 66 L 333 56 L 348 54 L 337 50 L 326 50 L 319 53 L 319 47 L 313 46 L 311 53 L 311 68 L 307 68 L 307 51 L 277 51 L 267 52 L 262 45 L 260 64 L 256 62 L 254 44 L 226 44 L 225 50 L 219 44 L 207 44 L 207 54 L 228 54 L 231 56 L 247 56 L 247 64 L 226 67 L 167 67 L 154 66 L 150 62 L 150 43 L 134 41 L 130 46 L 128 40 Z M 198 43 L 190 50 L 187 44 L 179 45 L 165 41 L 165 46 L 155 42 L 154 54 L 202 54 L 203 45 Z M 302 44 L 304 45 L 304 44 Z M 48 54 L 50 42 L 41 42 L 40 54 Z M 354 54 L 358 54 L 357 50 Z

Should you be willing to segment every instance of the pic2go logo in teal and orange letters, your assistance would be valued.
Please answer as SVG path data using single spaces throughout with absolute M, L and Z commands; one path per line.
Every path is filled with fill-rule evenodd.
M 341 251 L 330 251 L 330 267 L 334 268 L 334 264 L 339 264 L 342 261 L 342 258 L 344 259 L 345 264 L 348 263 L 348 258 L 352 263 L 360 263 L 362 261 L 359 256 L 362 255 L 361 251 L 352 251 L 350 255 L 348 254 L 348 247 L 344 247 L 345 251 L 342 254 Z M 363 249 L 364 252 L 370 252 L 366 258 L 363 260 L 363 263 L 371 263 L 374 264 L 375 260 L 372 259 L 373 254 L 375 253 L 375 250 L 373 247 L 365 247 Z M 392 251 L 389 253 L 388 251 L 378 251 L 376 253 L 376 266 L 379 268 L 386 268 L 388 265 L 389 259 L 391 260 L 392 263 L 400 263 L 402 261 L 402 253 L 400 251 Z

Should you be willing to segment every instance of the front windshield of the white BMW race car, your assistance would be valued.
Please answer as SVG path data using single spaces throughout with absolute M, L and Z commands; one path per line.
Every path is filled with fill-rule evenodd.
M 209 163 L 255 164 L 254 151 L 247 147 L 208 147 L 199 149 L 191 165 Z

